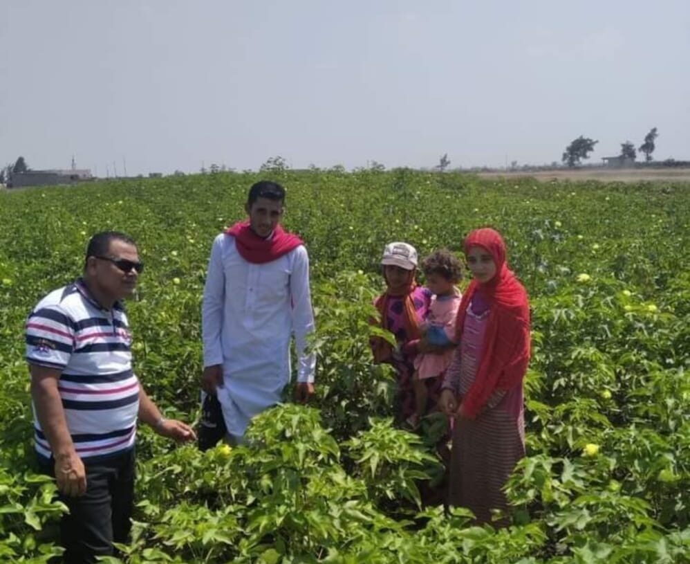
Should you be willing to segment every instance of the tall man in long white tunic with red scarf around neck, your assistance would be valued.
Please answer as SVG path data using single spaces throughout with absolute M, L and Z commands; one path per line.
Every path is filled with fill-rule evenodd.
M 281 401 L 293 334 L 297 399 L 313 394 L 315 358 L 305 350 L 314 330 L 309 259 L 301 239 L 280 225 L 284 201 L 278 183 L 255 183 L 245 204 L 248 219 L 213 243 L 203 295 L 201 386 L 210 399 L 217 397 L 222 417 L 217 423 L 204 417 L 201 448 L 218 440 L 216 433 L 203 440 L 207 428 L 223 428 L 227 441 L 241 442 L 252 417 Z

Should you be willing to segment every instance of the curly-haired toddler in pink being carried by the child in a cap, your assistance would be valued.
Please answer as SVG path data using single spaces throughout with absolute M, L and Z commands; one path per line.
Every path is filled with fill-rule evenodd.
M 436 352 L 423 352 L 414 360 L 413 388 L 415 412 L 407 424 L 416 428 L 427 412 L 429 392 L 427 380 L 445 373 L 451 363 L 456 335 L 456 318 L 460 306 L 460 291 L 456 284 L 462 279 L 460 261 L 447 249 L 436 251 L 422 262 L 427 288 L 433 296 L 427 318 L 422 323 L 422 340 L 436 348 Z

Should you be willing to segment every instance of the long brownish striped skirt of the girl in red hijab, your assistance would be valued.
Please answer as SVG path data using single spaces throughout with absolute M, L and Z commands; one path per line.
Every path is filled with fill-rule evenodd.
M 492 509 L 507 509 L 503 486 L 525 455 L 525 422 L 494 408 L 476 419 L 457 419 L 453 432 L 448 502 L 467 507 L 479 525 L 491 523 Z M 508 525 L 503 518 L 492 523 Z

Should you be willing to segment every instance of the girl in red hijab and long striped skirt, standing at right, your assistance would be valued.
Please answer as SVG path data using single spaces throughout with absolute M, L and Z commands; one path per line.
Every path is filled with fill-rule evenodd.
M 471 509 L 477 522 L 485 523 L 492 521 L 492 509 L 507 509 L 503 485 L 525 455 L 523 378 L 530 359 L 530 307 L 524 287 L 505 264 L 498 232 L 469 233 L 465 257 L 472 282 L 460 302 L 460 345 L 439 403 L 456 419 L 449 503 Z M 507 525 L 507 520 L 497 524 Z

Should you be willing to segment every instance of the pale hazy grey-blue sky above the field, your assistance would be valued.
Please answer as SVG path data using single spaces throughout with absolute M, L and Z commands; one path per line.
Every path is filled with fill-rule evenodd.
M 0 163 L 690 160 L 690 1 L 0 0 Z

